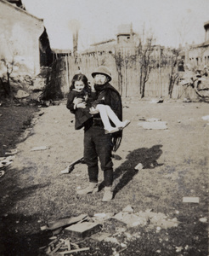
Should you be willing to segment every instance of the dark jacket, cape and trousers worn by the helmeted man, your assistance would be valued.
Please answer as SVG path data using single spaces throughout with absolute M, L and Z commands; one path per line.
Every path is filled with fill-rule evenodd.
M 102 103 L 109 105 L 118 118 L 122 118 L 121 96 L 109 83 L 95 85 L 98 100 L 95 105 Z M 92 102 L 93 104 L 93 102 Z M 104 171 L 104 186 L 110 187 L 113 183 L 112 150 L 116 151 L 121 143 L 121 131 L 104 134 L 104 125 L 99 113 L 86 122 L 84 128 L 84 160 L 88 165 L 88 176 L 91 183 L 98 183 L 98 158 L 101 169 Z

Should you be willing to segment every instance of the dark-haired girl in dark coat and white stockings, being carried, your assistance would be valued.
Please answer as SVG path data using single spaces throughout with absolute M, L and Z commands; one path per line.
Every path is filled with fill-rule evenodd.
M 81 98 L 82 100 L 80 103 L 75 104 L 75 98 Z M 71 110 L 71 113 L 75 113 L 76 130 L 81 129 L 88 119 L 93 118 L 93 115 L 89 113 L 89 111 L 94 99 L 95 95 L 92 92 L 91 87 L 88 85 L 87 77 L 82 73 L 74 75 L 66 107 Z M 99 111 L 104 124 L 105 133 L 119 131 L 130 123 L 128 120 L 121 122 L 121 120 L 116 116 L 116 113 L 114 113 L 108 105 L 98 104 L 95 108 Z M 116 125 L 116 127 L 110 125 L 110 120 Z

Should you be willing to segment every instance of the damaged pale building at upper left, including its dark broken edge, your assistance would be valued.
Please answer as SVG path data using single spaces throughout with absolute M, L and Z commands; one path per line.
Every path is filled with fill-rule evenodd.
M 19 74 L 37 75 L 52 54 L 43 20 L 25 11 L 21 1 L 0 0 L 1 74 L 7 67 Z

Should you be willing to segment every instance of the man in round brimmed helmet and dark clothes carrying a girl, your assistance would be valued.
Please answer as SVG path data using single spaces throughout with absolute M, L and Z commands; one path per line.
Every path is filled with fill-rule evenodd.
M 109 83 L 111 73 L 107 67 L 100 66 L 92 73 L 94 79 L 94 90 L 98 104 L 110 106 L 116 113 L 118 119 L 122 120 L 121 96 Z M 98 175 L 100 161 L 101 170 L 104 172 L 104 196 L 102 201 L 110 201 L 113 197 L 113 162 L 111 160 L 112 150 L 116 151 L 121 143 L 122 131 L 105 133 L 104 125 L 99 115 L 99 110 L 90 108 L 93 119 L 89 119 L 84 127 L 84 161 L 88 165 L 89 184 L 85 189 L 77 191 L 78 195 L 87 195 L 98 192 Z M 127 121 L 127 125 L 130 121 Z

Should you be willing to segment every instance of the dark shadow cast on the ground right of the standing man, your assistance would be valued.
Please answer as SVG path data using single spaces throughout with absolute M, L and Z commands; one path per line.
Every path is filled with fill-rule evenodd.
M 154 169 L 156 166 L 162 166 L 163 164 L 158 164 L 157 160 L 162 154 L 162 145 L 154 145 L 151 148 L 138 148 L 127 154 L 126 161 L 121 164 L 114 172 L 114 180 L 121 177 L 119 183 L 113 191 L 113 196 L 115 196 L 118 191 L 127 185 L 133 176 L 138 173 L 134 169 L 138 163 L 143 165 L 143 169 Z

